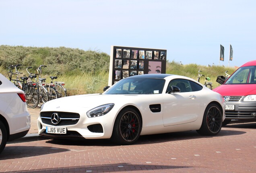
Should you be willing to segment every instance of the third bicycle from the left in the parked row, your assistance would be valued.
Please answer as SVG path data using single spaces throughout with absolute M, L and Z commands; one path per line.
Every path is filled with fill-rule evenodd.
M 48 96 L 49 96 L 49 101 L 53 100 L 53 99 L 58 99 L 59 98 L 59 94 L 56 91 L 56 89 L 54 88 L 54 83 L 45 83 L 46 78 L 41 78 L 42 75 L 42 68 L 41 67 L 47 67 L 45 65 L 40 65 L 37 68 L 37 73 L 39 74 L 38 76 L 38 80 L 42 83 L 45 84 L 45 89 L 47 90 Z M 39 82 L 39 83 L 40 83 Z

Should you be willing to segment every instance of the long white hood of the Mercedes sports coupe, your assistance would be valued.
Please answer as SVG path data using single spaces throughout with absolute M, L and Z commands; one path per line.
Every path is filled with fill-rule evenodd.
M 43 107 L 47 106 L 47 109 L 65 109 L 68 107 L 81 107 L 92 109 L 94 107 L 105 105 L 108 103 L 118 104 L 122 101 L 126 103 L 133 103 L 134 97 L 138 95 L 106 95 L 106 94 L 89 94 L 89 95 L 76 95 L 63 97 L 48 101 L 44 104 Z

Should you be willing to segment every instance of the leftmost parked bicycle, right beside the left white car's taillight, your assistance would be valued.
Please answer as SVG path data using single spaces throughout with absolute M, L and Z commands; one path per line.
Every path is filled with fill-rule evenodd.
M 39 103 L 39 94 L 37 92 L 37 89 L 35 89 L 35 87 L 33 86 L 33 84 L 31 84 L 30 82 L 27 82 L 28 77 L 26 77 L 26 76 L 20 77 L 21 80 L 19 80 L 19 76 L 18 75 L 22 74 L 22 73 L 17 70 L 18 66 L 21 66 L 21 64 L 9 66 L 9 71 L 8 71 L 9 80 L 13 81 L 14 84 L 19 89 L 24 91 L 25 96 L 26 96 L 27 107 L 33 109 L 33 108 L 37 107 L 37 105 Z M 15 73 L 12 71 L 13 68 L 15 68 Z M 12 75 L 15 75 L 16 79 L 12 79 Z M 30 76 L 30 77 L 33 78 L 32 76 Z

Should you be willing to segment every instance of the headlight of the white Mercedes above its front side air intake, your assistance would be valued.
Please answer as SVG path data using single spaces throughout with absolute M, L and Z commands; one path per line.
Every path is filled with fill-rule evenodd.
M 100 117 L 102 115 L 105 115 L 114 107 L 114 105 L 115 105 L 114 103 L 110 103 L 106 105 L 101 105 L 99 107 L 95 107 L 86 113 L 87 117 L 92 118 L 92 117 Z

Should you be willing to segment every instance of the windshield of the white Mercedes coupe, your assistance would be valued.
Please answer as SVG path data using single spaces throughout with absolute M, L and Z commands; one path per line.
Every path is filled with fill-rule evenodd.
M 164 84 L 165 80 L 159 78 L 125 78 L 104 94 L 161 94 Z

